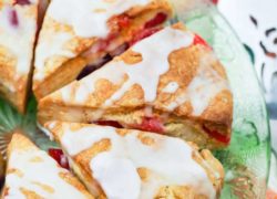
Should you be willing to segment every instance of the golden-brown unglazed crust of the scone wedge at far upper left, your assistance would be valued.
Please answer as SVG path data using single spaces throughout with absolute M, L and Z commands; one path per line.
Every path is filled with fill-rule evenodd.
M 12 4 L 13 1 L 6 1 L 3 4 Z M 0 4 L 1 7 L 1 4 Z M 27 19 L 38 20 L 38 3 L 28 6 L 28 8 L 19 8 L 24 10 Z M 3 30 L 6 31 L 6 30 Z M 24 49 L 32 53 L 35 42 L 35 32 L 33 30 L 33 38 L 30 41 L 31 49 Z M 0 32 L 1 34 L 1 32 Z M 14 45 L 17 43 L 14 42 Z M 20 48 L 20 46 L 19 46 Z M 8 100 L 20 113 L 24 113 L 27 97 L 30 88 L 30 77 L 32 69 L 32 57 L 30 60 L 29 72 L 25 74 L 19 74 L 17 71 L 18 57 L 10 51 L 9 46 L 3 46 L 0 42 L 0 95 Z

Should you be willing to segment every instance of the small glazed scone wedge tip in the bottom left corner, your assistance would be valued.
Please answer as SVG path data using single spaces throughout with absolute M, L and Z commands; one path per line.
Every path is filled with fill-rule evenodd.
M 69 170 L 20 133 L 8 147 L 8 166 L 1 198 L 93 198 Z

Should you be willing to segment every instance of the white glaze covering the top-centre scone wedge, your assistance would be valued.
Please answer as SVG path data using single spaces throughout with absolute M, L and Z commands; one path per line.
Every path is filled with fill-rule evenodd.
M 64 59 L 75 57 L 74 51 L 69 49 L 70 40 L 75 38 L 106 38 L 110 33 L 107 21 L 116 14 L 137 7 L 146 6 L 152 0 L 52 0 L 47 19 L 53 18 L 62 24 L 69 24 L 74 33 L 57 31 L 52 34 L 43 34 L 47 27 L 43 27 L 35 50 L 34 76 L 35 81 L 43 81 L 54 69 L 47 67 L 45 62 L 53 56 Z M 66 7 L 64 7 L 66 4 Z M 61 9 L 63 8 L 63 9 Z M 98 44 L 96 44 L 98 45 Z M 92 46 L 92 50 L 96 46 Z M 57 65 L 58 66 L 58 65 Z

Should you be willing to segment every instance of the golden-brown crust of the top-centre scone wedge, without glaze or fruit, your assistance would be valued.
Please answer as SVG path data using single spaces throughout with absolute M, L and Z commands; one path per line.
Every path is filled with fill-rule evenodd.
M 137 7 L 129 10 L 127 14 L 134 18 L 132 19 L 132 24 L 127 29 L 121 30 L 120 35 L 114 41 L 114 44 L 120 46 L 125 42 L 131 41 L 134 32 L 141 30 L 142 25 L 145 24 L 145 21 L 153 19 L 153 17 L 158 12 L 172 15 L 172 8 L 167 0 L 153 0 L 152 3 L 146 7 Z M 113 18 L 111 19 L 110 24 L 114 25 L 112 20 Z M 112 30 L 117 29 L 112 25 L 110 27 Z M 40 32 L 39 44 L 42 41 L 51 40 L 51 36 L 57 32 L 66 32 L 72 35 L 72 39 L 63 45 L 63 49 L 70 50 L 75 54 L 75 57 L 69 59 L 65 56 L 53 55 L 45 61 L 43 66 L 44 73 L 47 74 L 45 78 L 43 81 L 33 80 L 33 92 L 37 98 L 42 98 L 47 94 L 50 94 L 74 81 L 88 64 L 94 63 L 106 54 L 106 52 L 103 51 L 94 53 L 90 56 L 85 55 L 84 57 L 83 53 L 85 53 L 85 51 L 100 40 L 96 38 L 80 38 L 75 35 L 72 27 L 61 24 L 48 15 L 44 19 L 44 23 Z

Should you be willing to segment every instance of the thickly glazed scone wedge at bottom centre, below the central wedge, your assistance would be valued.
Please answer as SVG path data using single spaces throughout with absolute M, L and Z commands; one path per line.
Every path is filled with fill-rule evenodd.
M 216 198 L 223 187 L 220 163 L 179 138 L 78 123 L 45 126 L 95 197 Z

